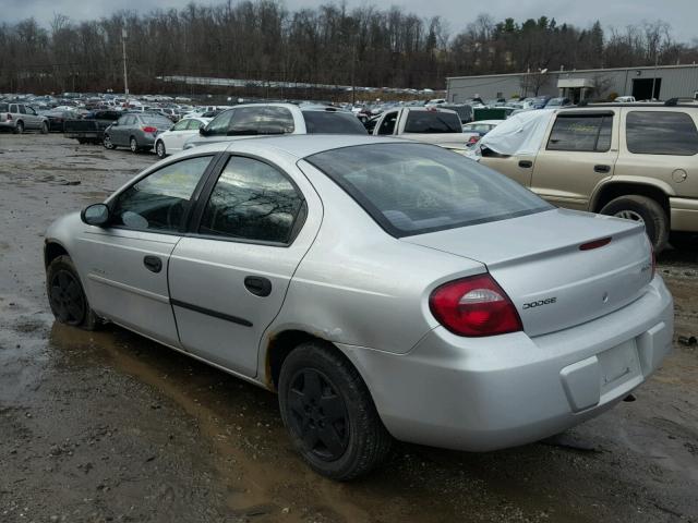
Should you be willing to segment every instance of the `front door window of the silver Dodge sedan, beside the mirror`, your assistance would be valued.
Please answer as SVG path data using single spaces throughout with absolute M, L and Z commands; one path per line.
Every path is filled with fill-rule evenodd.
M 131 185 L 116 202 L 112 224 L 178 232 L 212 158 L 201 156 L 170 163 Z

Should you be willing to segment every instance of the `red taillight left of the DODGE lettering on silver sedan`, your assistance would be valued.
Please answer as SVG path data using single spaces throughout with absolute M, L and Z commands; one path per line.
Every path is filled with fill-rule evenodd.
M 494 336 L 521 330 L 509 296 L 489 273 L 450 281 L 432 292 L 432 314 L 458 336 Z

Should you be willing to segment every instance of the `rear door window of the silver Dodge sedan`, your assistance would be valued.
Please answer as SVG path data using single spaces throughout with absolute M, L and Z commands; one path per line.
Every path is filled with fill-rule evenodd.
M 287 244 L 303 202 L 279 170 L 252 158 L 231 157 L 206 204 L 198 232 Z

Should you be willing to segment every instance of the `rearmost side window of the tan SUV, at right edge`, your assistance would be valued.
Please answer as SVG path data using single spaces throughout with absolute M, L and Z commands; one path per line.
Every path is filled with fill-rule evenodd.
M 636 155 L 693 156 L 698 132 L 693 118 L 679 111 L 631 111 L 625 119 L 628 150 Z

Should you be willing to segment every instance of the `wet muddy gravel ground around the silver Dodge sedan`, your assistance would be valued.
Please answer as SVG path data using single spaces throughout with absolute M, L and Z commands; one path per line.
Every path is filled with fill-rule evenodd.
M 555 440 L 398 445 L 336 484 L 292 452 L 273 394 L 116 327 L 56 324 L 47 226 L 155 160 L 0 134 L 0 522 L 698 521 L 696 346 L 675 343 L 637 401 Z M 676 335 L 698 335 L 698 253 L 660 271 Z

